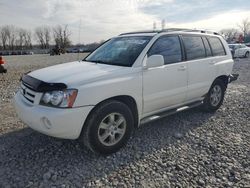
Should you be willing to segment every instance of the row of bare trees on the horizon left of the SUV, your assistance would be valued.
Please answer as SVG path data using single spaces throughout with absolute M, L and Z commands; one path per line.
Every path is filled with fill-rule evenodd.
M 0 50 L 29 50 L 36 41 L 41 49 L 49 49 L 51 44 L 66 49 L 71 45 L 68 26 L 39 26 L 33 32 L 14 25 L 0 27 Z

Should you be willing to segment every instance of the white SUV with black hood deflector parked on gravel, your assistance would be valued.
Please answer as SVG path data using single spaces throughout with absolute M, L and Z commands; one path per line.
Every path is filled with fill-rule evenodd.
M 139 125 L 201 105 L 217 110 L 233 60 L 216 33 L 168 29 L 114 37 L 83 61 L 23 75 L 15 95 L 31 128 L 112 153 Z

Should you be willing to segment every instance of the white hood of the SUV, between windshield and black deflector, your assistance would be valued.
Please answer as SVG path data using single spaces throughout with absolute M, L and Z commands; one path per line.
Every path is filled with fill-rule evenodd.
M 65 83 L 70 86 L 103 79 L 124 68 L 130 67 L 76 61 L 39 69 L 28 75 L 44 82 Z

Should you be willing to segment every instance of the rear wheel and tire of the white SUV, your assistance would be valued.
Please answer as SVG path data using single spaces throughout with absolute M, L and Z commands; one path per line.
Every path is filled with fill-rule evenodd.
M 221 79 L 217 79 L 212 84 L 205 99 L 202 109 L 206 112 L 215 112 L 223 103 L 226 85 Z

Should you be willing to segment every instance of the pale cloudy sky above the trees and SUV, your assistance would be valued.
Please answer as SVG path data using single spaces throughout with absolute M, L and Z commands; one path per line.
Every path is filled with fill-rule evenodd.
M 0 0 L 0 26 L 68 25 L 73 43 L 91 43 L 154 22 L 161 29 L 163 19 L 165 28 L 237 28 L 250 20 L 249 7 L 250 0 Z

